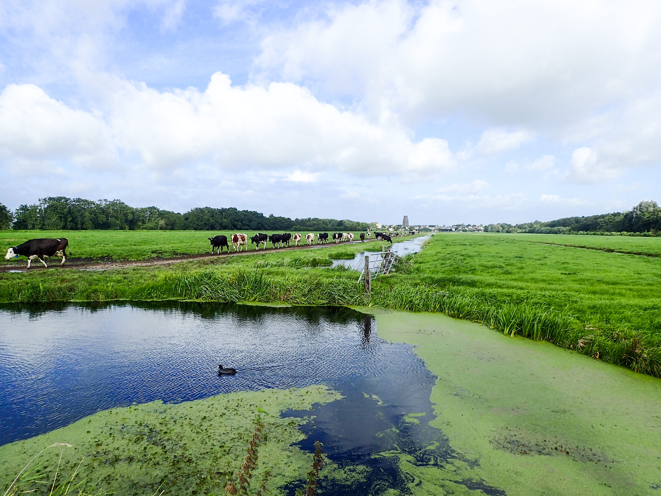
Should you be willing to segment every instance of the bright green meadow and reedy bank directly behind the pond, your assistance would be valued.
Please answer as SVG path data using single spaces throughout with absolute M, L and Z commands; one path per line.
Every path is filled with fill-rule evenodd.
M 160 268 L 2 273 L 0 301 L 176 298 L 439 311 L 661 377 L 661 260 L 531 242 L 531 236 L 543 235 L 435 235 L 397 272 L 375 280 L 371 294 L 356 272 L 329 266 L 368 247 L 380 249 L 380 242 Z M 596 238 L 568 237 L 577 244 Z M 630 243 L 635 250 L 644 242 L 653 250 L 657 241 L 604 238 L 613 243 L 603 246 L 608 249 Z

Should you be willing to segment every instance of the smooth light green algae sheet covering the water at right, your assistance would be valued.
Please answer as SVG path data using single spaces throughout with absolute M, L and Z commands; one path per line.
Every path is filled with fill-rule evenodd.
M 364 311 L 436 374 L 430 425 L 463 458 L 392 453 L 414 494 L 464 494 L 466 481 L 510 496 L 661 494 L 660 379 L 440 313 Z

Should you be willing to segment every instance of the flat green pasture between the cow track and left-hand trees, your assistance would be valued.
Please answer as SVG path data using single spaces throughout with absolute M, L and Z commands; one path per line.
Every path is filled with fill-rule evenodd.
M 0 231 L 0 249 L 3 250 L 4 255 L 9 247 L 16 246 L 28 239 L 65 237 L 69 240 L 69 251 L 74 259 L 115 261 L 160 259 L 177 255 L 211 253 L 208 238 L 218 234 L 226 235 L 229 247 L 233 249 L 229 237 L 235 232 L 239 231 Z M 249 237 L 257 233 L 257 231 L 240 232 Z M 312 231 L 301 233 L 303 237 L 301 241 L 305 244 L 307 244 L 305 235 L 309 232 Z M 316 239 L 318 232 L 314 233 Z M 272 232 L 268 232 L 268 234 L 272 234 Z M 356 231 L 354 239 L 358 239 L 358 236 L 360 236 L 360 232 Z M 270 249 L 271 243 L 267 243 L 266 247 Z M 263 248 L 264 246 L 260 245 L 260 249 Z M 250 239 L 247 249 L 249 251 L 256 249 L 256 245 L 251 244 Z

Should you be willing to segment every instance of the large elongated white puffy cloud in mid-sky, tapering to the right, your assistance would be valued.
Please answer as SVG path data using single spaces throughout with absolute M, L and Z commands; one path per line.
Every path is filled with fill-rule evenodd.
M 357 175 L 434 174 L 452 166 L 447 142 L 414 143 L 401 126 L 317 101 L 292 83 L 232 86 L 215 73 L 204 92 L 121 82 L 112 128 L 155 169 L 213 160 L 225 169 L 306 165 Z

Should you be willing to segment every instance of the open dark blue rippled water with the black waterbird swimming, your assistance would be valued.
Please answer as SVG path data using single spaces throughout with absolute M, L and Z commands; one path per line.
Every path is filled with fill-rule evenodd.
M 362 489 L 408 483 L 396 459 L 373 454 L 397 447 L 418 458 L 427 450 L 426 458 L 433 443 L 437 458 L 459 456 L 429 425 L 436 377 L 410 345 L 380 339 L 375 319 L 358 311 L 171 302 L 3 306 L 0 329 L 0 444 L 133 403 L 323 383 L 344 399 L 317 405 L 310 428 L 331 460 L 369 469 Z M 218 376 L 219 363 L 239 372 Z M 410 413 L 420 420 L 405 418 Z M 346 485 L 325 489 L 340 495 Z

